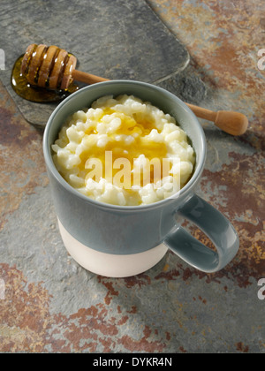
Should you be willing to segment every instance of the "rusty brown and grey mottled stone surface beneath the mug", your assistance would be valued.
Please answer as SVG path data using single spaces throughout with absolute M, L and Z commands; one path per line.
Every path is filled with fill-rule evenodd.
M 208 157 L 198 193 L 234 224 L 239 254 L 216 274 L 171 253 L 130 278 L 81 269 L 58 233 L 42 130 L 27 122 L 1 83 L 0 352 L 265 351 L 265 299 L 258 297 L 265 278 L 265 70 L 257 67 L 264 1 L 147 4 L 190 54 L 183 72 L 157 84 L 186 102 L 249 118 L 240 137 L 200 120 Z M 186 227 L 209 244 L 194 225 Z

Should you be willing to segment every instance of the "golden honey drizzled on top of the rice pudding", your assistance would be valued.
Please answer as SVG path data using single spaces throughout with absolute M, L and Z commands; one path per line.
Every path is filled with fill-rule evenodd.
M 169 164 L 169 168 L 167 170 L 163 169 L 163 159 L 167 157 L 167 146 L 165 143 L 155 142 L 151 140 L 147 140 L 145 136 L 147 136 L 153 129 L 157 130 L 158 133 L 161 133 L 161 130 L 158 130 L 155 124 L 148 120 L 143 120 L 137 117 L 137 114 L 134 114 L 134 117 L 129 117 L 124 113 L 118 112 L 116 110 L 111 110 L 110 108 L 104 109 L 102 111 L 102 117 L 105 115 L 111 115 L 111 113 L 115 113 L 116 117 L 121 119 L 122 125 L 117 129 L 116 133 L 108 134 L 109 141 L 106 144 L 105 148 L 99 148 L 96 146 L 89 146 L 87 151 L 84 151 L 81 155 L 79 155 L 81 163 L 79 163 L 79 171 L 86 171 L 87 166 L 87 159 L 97 158 L 102 163 L 102 174 L 106 174 L 111 169 L 111 176 L 109 178 L 110 182 L 112 181 L 112 176 L 115 177 L 117 172 L 120 171 L 120 166 L 118 165 L 115 167 L 115 163 L 119 160 L 128 160 L 129 167 L 125 170 L 125 164 L 122 163 L 124 167 L 124 172 L 127 172 L 131 175 L 131 182 L 129 182 L 130 186 L 125 187 L 128 191 L 131 188 L 131 184 L 135 186 L 135 183 L 139 184 L 139 186 L 146 186 L 148 183 L 154 183 L 161 179 L 163 174 L 164 176 L 168 176 L 171 168 L 171 163 Z M 102 117 L 99 117 L 97 122 L 102 122 Z M 90 126 L 86 134 L 97 134 L 96 127 Z M 134 137 L 133 143 L 126 144 L 124 141 L 117 141 L 115 137 L 117 135 L 133 135 L 137 134 Z M 108 157 L 106 159 L 106 153 L 111 154 L 111 158 Z M 155 157 L 154 157 L 155 154 Z M 146 174 L 146 179 L 141 178 L 135 181 L 133 178 L 133 171 L 134 169 L 134 160 L 137 159 L 140 155 L 144 155 L 150 162 L 151 166 L 149 169 L 148 174 Z M 88 160 L 89 161 L 89 160 Z M 109 169 L 110 168 L 110 169 Z M 168 171 L 168 173 L 163 173 Z M 156 173 L 156 175 L 155 175 Z M 136 194 L 136 193 L 135 193 Z

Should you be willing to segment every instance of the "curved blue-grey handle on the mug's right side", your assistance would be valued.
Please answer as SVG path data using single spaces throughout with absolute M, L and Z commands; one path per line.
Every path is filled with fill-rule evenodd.
M 164 244 L 181 259 L 203 272 L 223 269 L 239 251 L 239 237 L 228 219 L 197 194 L 186 201 L 174 216 L 184 216 L 205 232 L 216 251 L 203 245 L 183 227 L 170 233 Z

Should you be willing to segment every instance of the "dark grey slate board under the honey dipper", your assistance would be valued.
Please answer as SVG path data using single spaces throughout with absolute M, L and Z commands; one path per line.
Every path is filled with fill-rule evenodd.
M 4 0 L 1 5 L 6 63 L 0 77 L 23 116 L 35 125 L 45 125 L 57 103 L 28 102 L 10 84 L 14 61 L 33 42 L 66 49 L 78 57 L 79 70 L 108 79 L 155 83 L 189 63 L 186 48 L 144 0 Z

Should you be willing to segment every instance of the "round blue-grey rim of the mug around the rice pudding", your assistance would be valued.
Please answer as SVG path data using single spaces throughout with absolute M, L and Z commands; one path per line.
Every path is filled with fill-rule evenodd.
M 174 193 L 174 194 L 178 194 L 178 197 L 174 197 L 174 195 L 172 195 L 172 196 L 170 196 L 166 199 L 163 199 L 161 201 L 156 201 L 156 202 L 153 202 L 153 203 L 150 203 L 150 204 L 145 204 L 145 205 L 136 205 L 136 206 L 113 205 L 113 204 L 109 204 L 109 203 L 106 203 L 106 202 L 93 200 L 93 199 L 89 198 L 87 195 L 85 195 L 83 193 L 80 193 L 75 188 L 73 188 L 68 182 L 66 182 L 66 180 L 61 176 L 61 174 L 57 170 L 57 168 L 55 166 L 55 163 L 53 162 L 52 156 L 51 156 L 51 149 L 50 149 L 50 145 L 49 145 L 49 132 L 50 132 L 50 129 L 52 128 L 55 117 L 57 117 L 58 112 L 60 110 L 63 110 L 64 106 L 69 101 L 71 101 L 73 98 L 75 98 L 76 95 L 83 94 L 84 91 L 86 91 L 86 90 L 89 91 L 89 90 L 95 88 L 95 86 L 104 86 L 104 85 L 110 85 L 110 84 L 111 85 L 117 85 L 117 84 L 118 85 L 126 85 L 126 84 L 131 85 L 131 84 L 133 84 L 133 85 L 145 86 L 145 87 L 149 87 L 151 89 L 155 89 L 156 91 L 160 92 L 161 94 L 168 95 L 169 97 L 171 97 L 173 100 L 175 100 L 178 103 L 179 106 L 181 106 L 184 110 L 186 110 L 186 112 L 191 117 L 193 117 L 193 121 L 196 122 L 196 124 L 198 126 L 199 133 L 200 133 L 201 161 L 200 161 L 200 163 L 196 163 L 196 169 L 193 171 L 192 178 L 190 178 L 188 180 L 186 185 L 183 186 L 180 189 L 180 191 L 178 191 L 178 193 Z M 148 99 L 146 101 L 148 101 Z M 167 113 L 167 112 L 165 112 L 165 113 Z M 72 93 L 72 95 L 69 95 L 68 97 L 66 97 L 64 99 L 64 101 L 60 102 L 57 105 L 57 108 L 55 110 L 53 110 L 53 112 L 51 113 L 51 115 L 48 119 L 48 122 L 45 126 L 44 133 L 43 133 L 43 140 L 42 140 L 42 150 L 43 150 L 44 160 L 45 160 L 47 168 L 49 169 L 49 171 L 51 172 L 53 177 L 55 177 L 57 179 L 57 182 L 61 186 L 63 186 L 64 189 L 67 192 L 70 192 L 74 196 L 82 199 L 83 201 L 86 201 L 87 203 L 91 203 L 93 205 L 96 205 L 97 207 L 100 207 L 100 208 L 104 208 L 104 209 L 108 208 L 108 209 L 113 209 L 113 210 L 132 211 L 133 212 L 133 211 L 139 211 L 140 209 L 147 210 L 147 209 L 150 209 L 150 208 L 160 208 L 165 204 L 170 204 L 171 202 L 178 201 L 178 199 L 180 197 L 185 197 L 186 194 L 190 194 L 190 190 L 193 189 L 193 187 L 196 186 L 196 184 L 200 180 L 201 173 L 202 173 L 202 170 L 204 168 L 204 164 L 205 164 L 205 160 L 206 160 L 206 138 L 205 138 L 203 128 L 202 128 L 201 124 L 199 123 L 197 117 L 194 115 L 193 111 L 190 110 L 189 107 L 186 105 L 186 103 L 183 102 L 181 99 L 179 99 L 177 95 L 174 95 L 174 94 L 170 93 L 168 90 L 164 89 L 163 87 L 157 87 L 154 84 L 150 84 L 148 82 L 143 82 L 143 81 L 138 81 L 138 80 L 131 80 L 131 79 L 116 79 L 116 80 L 108 80 L 108 81 L 98 82 L 96 84 L 89 85 L 87 87 L 82 87 L 79 90 L 77 90 L 76 92 Z M 198 159 L 196 158 L 196 162 L 197 161 L 198 161 Z

